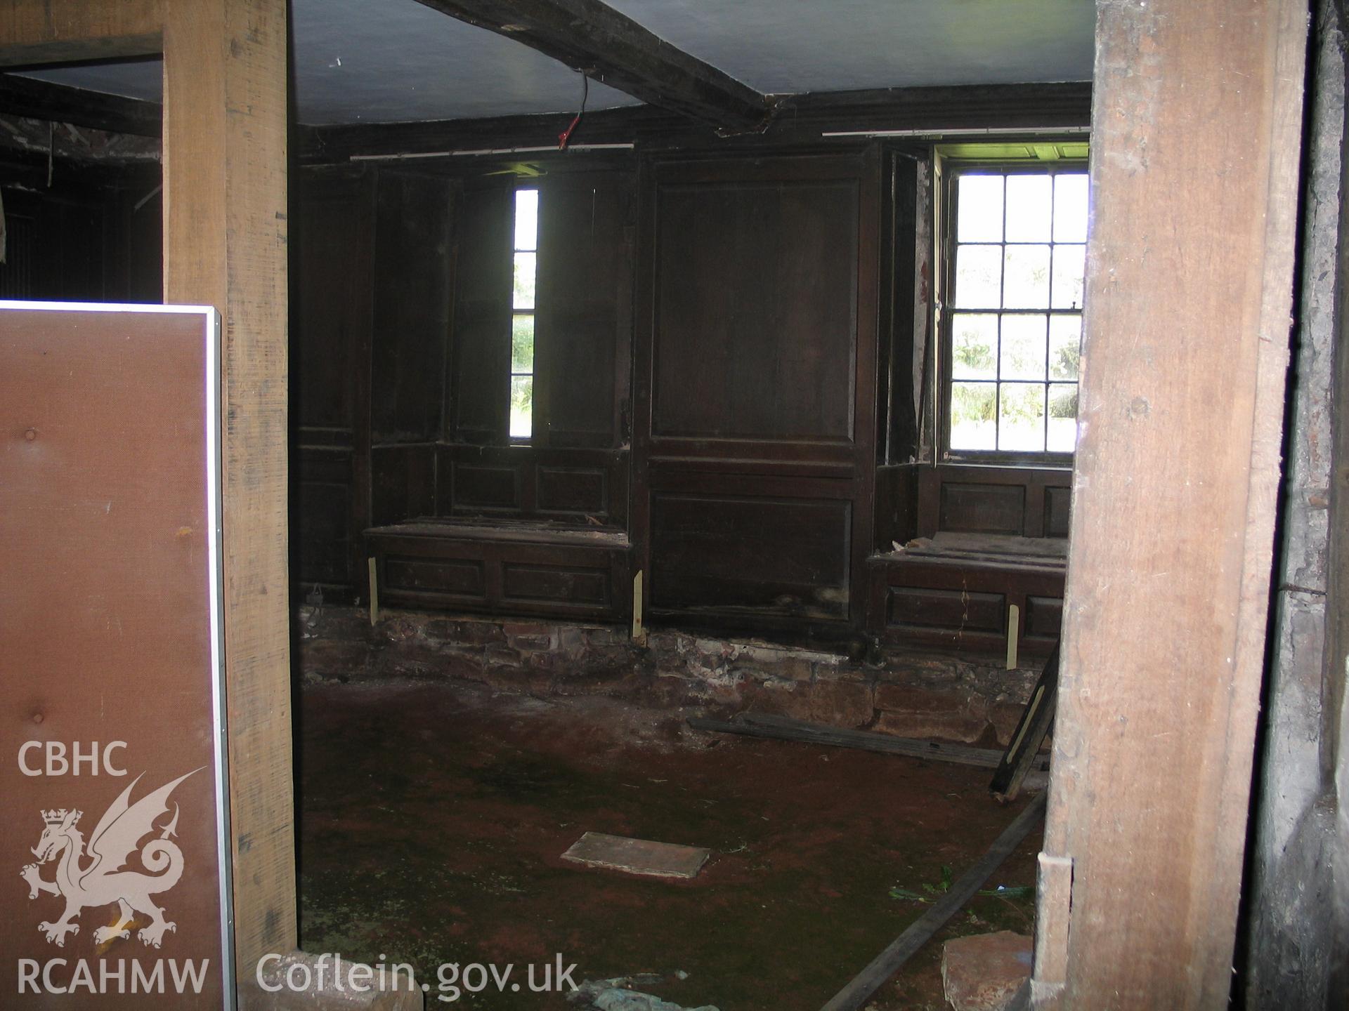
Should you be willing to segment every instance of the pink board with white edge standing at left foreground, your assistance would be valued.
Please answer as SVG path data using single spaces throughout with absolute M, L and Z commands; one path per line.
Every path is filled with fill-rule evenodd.
M 219 318 L 0 302 L 0 1006 L 232 1007 Z

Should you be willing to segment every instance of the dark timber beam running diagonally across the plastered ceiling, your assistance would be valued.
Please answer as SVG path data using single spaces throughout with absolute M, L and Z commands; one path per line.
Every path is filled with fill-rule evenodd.
M 742 133 L 762 129 L 772 102 L 674 49 L 599 0 L 420 0 L 441 13 L 522 42 L 650 105 Z

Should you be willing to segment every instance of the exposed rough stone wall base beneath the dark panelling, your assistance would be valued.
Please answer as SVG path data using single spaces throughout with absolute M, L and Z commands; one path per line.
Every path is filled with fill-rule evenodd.
M 461 678 L 534 696 L 606 694 L 712 713 L 743 709 L 905 737 L 1006 744 L 1040 665 L 889 651 L 876 665 L 758 640 L 494 621 L 360 608 L 299 611 L 306 681 Z

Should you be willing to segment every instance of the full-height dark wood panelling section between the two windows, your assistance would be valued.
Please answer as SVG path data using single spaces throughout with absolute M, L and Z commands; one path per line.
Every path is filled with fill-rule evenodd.
M 880 190 L 874 152 L 643 166 L 633 531 L 654 619 L 861 621 Z

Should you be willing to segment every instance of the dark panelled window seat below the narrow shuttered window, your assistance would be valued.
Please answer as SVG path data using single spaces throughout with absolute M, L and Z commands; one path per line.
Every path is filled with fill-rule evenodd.
M 631 611 L 622 528 L 534 518 L 436 518 L 372 527 L 382 603 L 621 621 Z

